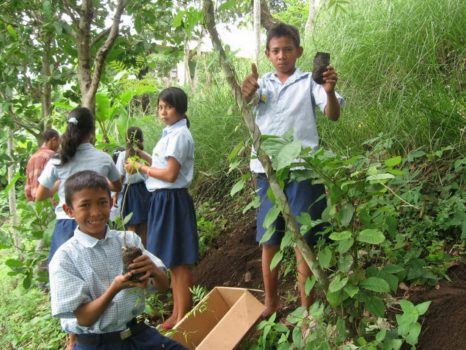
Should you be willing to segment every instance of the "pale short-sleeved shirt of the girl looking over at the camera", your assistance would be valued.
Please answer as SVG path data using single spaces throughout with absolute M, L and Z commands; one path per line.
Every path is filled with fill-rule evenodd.
M 163 129 L 162 138 L 152 152 L 152 166 L 166 168 L 169 157 L 175 158 L 181 165 L 176 181 L 171 183 L 148 176 L 146 187 L 150 192 L 159 189 L 187 188 L 193 181 L 194 140 L 186 119 L 180 119 Z

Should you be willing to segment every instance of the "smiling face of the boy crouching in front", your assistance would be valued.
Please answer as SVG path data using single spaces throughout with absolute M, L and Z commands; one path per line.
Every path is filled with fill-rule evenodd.
M 112 209 L 108 191 L 86 188 L 75 192 L 71 202 L 71 207 L 64 204 L 63 209 L 76 220 L 79 229 L 97 239 L 104 238 Z

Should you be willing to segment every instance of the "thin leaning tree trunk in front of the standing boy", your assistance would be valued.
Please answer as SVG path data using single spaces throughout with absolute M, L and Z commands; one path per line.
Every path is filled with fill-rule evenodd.
M 313 249 L 304 241 L 299 231 L 299 227 L 296 223 L 295 218 L 293 217 L 288 201 L 283 190 L 280 187 L 280 184 L 275 176 L 275 172 L 272 169 L 272 164 L 270 158 L 265 154 L 261 149 L 261 133 L 258 126 L 255 123 L 254 115 L 251 111 L 251 108 L 247 105 L 241 94 L 241 88 L 236 79 L 236 73 L 233 66 L 229 63 L 225 51 L 223 50 L 222 44 L 219 39 L 217 29 L 215 28 L 215 18 L 214 18 L 214 7 L 212 0 L 203 1 L 203 10 L 204 10 L 204 25 L 207 31 L 210 33 L 212 40 L 212 45 L 214 50 L 217 51 L 220 58 L 220 63 L 225 73 L 226 79 L 230 84 L 230 88 L 233 92 L 233 96 L 236 100 L 236 103 L 243 114 L 244 121 L 249 129 L 249 132 L 252 136 L 252 141 L 254 149 L 257 151 L 257 156 L 265 169 L 268 181 L 270 183 L 270 188 L 272 189 L 277 205 L 280 208 L 283 218 L 285 219 L 287 227 L 291 230 L 293 235 L 293 241 L 301 251 L 303 258 L 306 263 L 309 265 L 312 273 L 314 274 L 316 281 L 320 284 L 323 291 L 326 293 L 328 290 L 328 276 L 320 268 L 317 263 L 316 255 Z

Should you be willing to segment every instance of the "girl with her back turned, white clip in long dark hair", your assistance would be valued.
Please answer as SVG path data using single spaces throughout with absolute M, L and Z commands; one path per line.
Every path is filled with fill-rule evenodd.
M 94 170 L 109 180 L 112 191 L 121 190 L 120 174 L 113 163 L 112 157 L 97 150 L 90 140 L 94 136 L 95 121 L 91 111 L 85 107 L 73 109 L 68 115 L 68 125 L 61 137 L 61 147 L 57 158 L 52 158 L 39 177 L 36 201 L 53 197 L 58 189 L 60 199 L 55 208 L 57 221 L 50 244 L 49 261 L 53 254 L 73 236 L 77 226 L 63 210 L 65 203 L 65 180 L 82 170 Z M 96 215 L 95 222 L 101 220 Z M 92 224 L 92 223 L 91 223 Z

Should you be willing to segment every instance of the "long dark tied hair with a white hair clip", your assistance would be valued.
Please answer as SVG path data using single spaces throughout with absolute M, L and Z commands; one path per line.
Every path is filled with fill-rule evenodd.
M 68 115 L 68 125 L 61 138 L 60 165 L 69 162 L 83 140 L 91 136 L 95 130 L 95 120 L 86 107 L 73 109 Z

